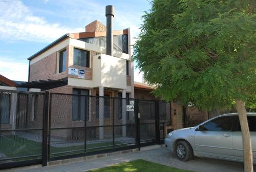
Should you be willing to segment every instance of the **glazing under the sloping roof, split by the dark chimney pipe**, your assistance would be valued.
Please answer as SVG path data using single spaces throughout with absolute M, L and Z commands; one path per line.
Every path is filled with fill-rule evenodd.
M 89 44 L 97 45 L 100 47 L 106 48 L 106 37 L 90 37 L 90 38 L 81 38 L 79 39 L 84 42 L 88 42 Z M 128 35 L 114 35 L 113 36 L 114 42 L 114 50 L 128 54 Z

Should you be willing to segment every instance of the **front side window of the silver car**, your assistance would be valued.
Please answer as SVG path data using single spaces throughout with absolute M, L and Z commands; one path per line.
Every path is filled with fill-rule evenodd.
M 235 121 L 234 116 L 225 116 L 212 119 L 209 122 L 206 122 L 202 125 L 203 131 L 232 131 L 232 125 Z

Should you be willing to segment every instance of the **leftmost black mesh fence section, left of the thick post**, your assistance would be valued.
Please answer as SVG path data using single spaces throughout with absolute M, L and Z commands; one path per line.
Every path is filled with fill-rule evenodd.
M 42 162 L 44 107 L 44 93 L 0 90 L 0 169 Z

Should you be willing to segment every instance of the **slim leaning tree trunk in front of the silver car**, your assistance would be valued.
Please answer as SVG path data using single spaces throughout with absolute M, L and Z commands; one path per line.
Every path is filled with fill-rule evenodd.
M 236 99 L 236 107 L 238 111 L 239 121 L 241 125 L 243 149 L 244 149 L 244 171 L 253 172 L 251 139 L 248 127 L 248 121 L 245 110 L 245 102 Z

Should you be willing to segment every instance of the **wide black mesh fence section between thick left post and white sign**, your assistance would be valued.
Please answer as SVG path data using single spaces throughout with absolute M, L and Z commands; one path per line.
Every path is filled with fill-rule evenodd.
M 49 161 L 136 148 L 135 99 L 50 93 Z

